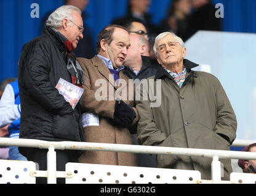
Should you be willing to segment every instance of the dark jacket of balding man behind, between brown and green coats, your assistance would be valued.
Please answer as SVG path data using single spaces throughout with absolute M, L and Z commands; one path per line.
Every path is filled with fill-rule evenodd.
M 124 69 L 122 69 L 122 72 L 130 79 L 143 80 L 153 75 L 156 75 L 157 67 L 159 66 L 151 64 L 150 58 L 148 56 L 142 56 L 142 69 L 140 69 L 138 75 L 135 75 L 129 67 L 124 67 Z

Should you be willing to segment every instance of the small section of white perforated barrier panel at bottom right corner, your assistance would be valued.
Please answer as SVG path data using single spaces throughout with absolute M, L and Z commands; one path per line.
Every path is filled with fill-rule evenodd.
M 230 181 L 236 184 L 256 184 L 256 174 L 233 172 L 230 174 Z

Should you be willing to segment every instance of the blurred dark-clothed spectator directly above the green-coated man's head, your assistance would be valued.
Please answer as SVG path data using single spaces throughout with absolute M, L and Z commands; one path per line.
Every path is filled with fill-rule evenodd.
M 172 0 L 167 17 L 161 22 L 162 32 L 171 31 L 184 40 L 188 15 L 191 12 L 190 0 Z

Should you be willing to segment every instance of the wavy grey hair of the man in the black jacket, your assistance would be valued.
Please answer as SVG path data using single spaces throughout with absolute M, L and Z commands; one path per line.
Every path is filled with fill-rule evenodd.
M 81 15 L 81 10 L 75 6 L 62 6 L 58 7 L 54 12 L 52 12 L 46 21 L 46 26 L 58 29 L 62 26 L 62 20 L 67 18 L 68 20 L 73 20 L 73 12 L 76 11 Z M 71 24 L 72 26 L 73 24 Z

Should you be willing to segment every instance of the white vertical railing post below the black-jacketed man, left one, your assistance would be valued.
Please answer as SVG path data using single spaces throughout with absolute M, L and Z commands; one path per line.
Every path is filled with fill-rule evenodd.
M 56 152 L 54 151 L 54 146 L 49 146 L 49 151 L 47 152 L 47 184 L 56 184 Z

